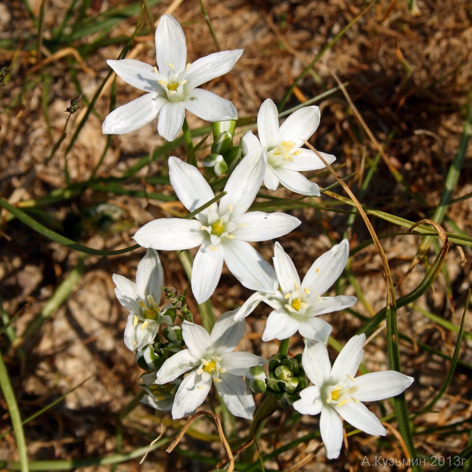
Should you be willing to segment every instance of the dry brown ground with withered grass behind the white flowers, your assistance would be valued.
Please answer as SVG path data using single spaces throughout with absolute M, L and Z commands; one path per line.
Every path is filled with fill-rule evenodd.
M 7 44 L 7 40 L 13 41 L 11 47 L 0 48 L 1 65 L 13 62 L 11 75 L 0 98 L 0 196 L 12 204 L 37 200 L 54 189 L 66 187 L 64 162 L 68 140 L 83 117 L 87 100 L 91 99 L 108 73 L 106 59 L 116 58 L 123 45 L 112 44 L 86 53 L 82 46 L 95 39 L 94 35 L 90 35 L 78 38 L 74 43 L 74 47 L 84 55 L 83 62 L 78 62 L 71 51 L 66 51 L 69 54 L 58 56 L 54 61 L 42 61 L 51 55 L 54 47 L 49 41 L 51 30 L 58 24 L 58 18 L 64 15 L 68 4 L 61 0 L 46 0 L 40 67 L 35 70 L 32 68 L 38 61 L 35 49 L 37 30 L 24 3 L 13 0 L 0 5 L 2 44 Z M 211 87 L 231 99 L 240 117 L 254 116 L 266 98 L 279 103 L 305 66 L 367 4 L 360 0 L 206 1 L 205 6 L 221 48 L 244 48 L 244 55 L 234 70 L 225 77 L 213 80 L 206 88 Z M 123 2 L 115 0 L 89 2 L 87 15 L 92 17 L 120 5 Z M 31 2 L 31 6 L 37 14 L 40 2 Z M 215 46 L 197 1 L 184 0 L 180 5 L 163 1 L 151 7 L 152 18 L 157 19 L 174 6 L 173 15 L 183 25 L 189 43 L 190 59 L 214 52 Z M 313 72 L 298 84 L 295 95 L 287 105 L 294 106 L 300 100 L 335 87 L 333 73 L 347 82 L 351 99 L 384 147 L 393 167 L 404 179 L 404 185 L 397 183 L 388 168 L 380 163 L 373 183 L 362 197 L 362 203 L 411 221 L 431 216 L 439 202 L 444 179 L 462 133 L 465 105 L 472 82 L 471 2 L 418 0 L 417 7 L 418 10 L 412 14 L 405 1 L 376 2 L 322 56 Z M 129 37 L 136 22 L 137 15 L 123 19 L 109 36 Z M 129 57 L 153 64 L 154 44 L 152 35 L 148 33 L 149 30 L 138 31 L 131 48 L 132 56 Z M 404 63 L 409 64 L 411 74 L 402 66 L 401 56 Z M 107 85 L 67 154 L 72 183 L 90 178 L 107 145 L 107 137 L 101 134 L 101 122 L 109 109 L 110 90 Z M 73 116 L 68 137 L 49 158 L 67 116 L 64 110 L 78 91 L 84 93 L 82 110 Z M 138 91 L 121 80 L 117 81 L 118 104 L 138 95 Z M 345 164 L 339 170 L 342 175 L 356 172 L 350 186 L 358 191 L 376 151 L 340 91 L 322 99 L 318 105 L 322 110 L 322 119 L 312 142 L 317 149 L 335 154 L 338 164 Z M 189 123 L 191 127 L 203 124 L 192 119 Z M 245 129 L 240 131 L 242 133 Z M 112 137 L 111 145 L 98 167 L 97 177 L 121 175 L 163 142 L 156 135 L 153 124 L 128 135 Z M 469 146 L 455 198 L 472 191 L 471 151 Z M 173 152 L 179 155 L 178 152 L 183 150 Z M 144 167 L 137 174 L 141 180 L 137 179 L 134 184 L 136 190 L 172 195 L 169 186 L 144 183 L 146 176 L 157 175 L 163 169 L 165 171 L 163 158 Z M 333 178 L 328 175 L 319 179 L 321 186 L 332 182 Z M 280 192 L 280 196 L 285 195 Z M 328 210 L 294 211 L 303 224 L 281 239 L 301 274 L 317 255 L 330 247 L 330 238 L 340 240 L 347 228 L 348 217 L 334 211 L 339 207 L 330 206 L 332 201 L 329 198 L 322 197 L 321 200 Z M 111 203 L 122 211 L 122 215 L 111 225 L 101 225 L 97 218 L 91 216 L 90 209 L 102 202 Z M 169 205 L 173 204 L 84 188 L 71 198 L 62 198 L 43 207 L 47 220 L 44 213 L 38 214 L 38 218 L 43 218 L 41 221 L 46 226 L 81 244 L 113 250 L 132 245 L 134 231 L 153 218 L 167 215 L 165 212 Z M 9 218 L 6 212 L 1 214 L 1 308 L 5 319 L 30 302 L 13 326 L 16 335 L 21 335 L 31 320 L 39 316 L 68 274 L 81 267 L 81 259 L 77 252 L 38 235 L 18 220 Z M 447 216 L 445 227 L 448 230 L 455 232 L 458 228 L 472 234 L 470 198 L 451 205 Z M 382 220 L 373 218 L 372 221 L 379 234 L 404 231 Z M 368 239 L 361 221 L 355 221 L 349 234 L 351 247 Z M 382 240 L 394 281 L 400 280 L 407 272 L 419 243 L 418 237 L 405 235 Z M 272 242 L 261 245 L 261 252 L 267 259 L 272 256 L 271 251 Z M 411 412 L 421 409 L 434 396 L 449 366 L 447 361 L 421 349 L 418 344 L 426 344 L 450 356 L 457 338 L 456 334 L 426 318 L 418 308 L 458 325 L 471 284 L 470 248 L 464 248 L 464 253 L 461 263 L 460 253 L 452 246 L 434 290 L 429 290 L 415 307 L 409 306 L 399 311 L 400 331 L 415 342 L 413 345 L 407 342 L 400 344 L 404 372 L 415 377 L 415 383 L 407 393 Z M 122 343 L 126 313 L 114 297 L 111 274 L 119 273 L 132 278 L 141 255 L 142 251 L 134 251 L 115 257 L 87 256 L 80 277 L 72 284 L 70 295 L 59 303 L 59 307 L 53 310 L 40 330 L 28 338 L 21 350 L 15 351 L 5 334 L 0 338 L 1 351 L 23 418 L 85 381 L 25 426 L 30 459 L 80 459 L 125 453 L 147 445 L 156 436 L 161 420 L 169 438 L 182 426 L 181 422 L 172 423 L 168 414 L 156 416 L 153 411 L 141 406 L 124 419 L 120 416 L 125 405 L 139 392 L 137 379 L 141 371 Z M 435 253 L 431 252 L 429 262 L 434 256 Z M 178 258 L 171 253 L 161 253 L 161 259 L 165 284 L 181 289 L 187 287 Z M 416 287 L 425 272 L 424 264 L 418 265 L 397 285 L 397 296 Z M 373 245 L 355 254 L 350 273 L 365 297 L 365 303 L 356 306 L 357 312 L 368 316 L 369 307 L 375 312 L 384 306 L 385 284 L 380 258 Z M 345 293 L 354 293 L 354 289 L 347 286 Z M 213 296 L 216 312 L 232 309 L 249 294 L 248 290 L 235 285 L 230 274 L 224 273 Z M 189 306 L 194 313 L 197 312 L 197 305 L 191 297 Z M 359 319 L 352 314 L 335 313 L 326 319 L 333 323 L 334 336 L 342 343 L 361 326 Z M 248 321 L 248 335 L 244 341 L 246 347 L 270 356 L 276 350 L 275 344 L 260 347 L 264 321 L 256 316 Z M 471 331 L 470 313 L 467 327 Z M 299 352 L 302 346 L 301 342 L 295 345 L 293 353 Z M 464 341 L 460 355 L 460 359 L 469 364 L 472 363 L 470 347 L 470 341 Z M 365 361 L 369 368 L 388 368 L 384 335 L 378 336 L 366 352 L 369 355 L 366 355 Z M 470 418 L 470 375 L 468 367 L 458 366 L 449 390 L 434 410 L 415 421 L 418 431 L 433 428 L 430 433 L 417 434 L 414 438 L 421 454 L 427 457 L 454 456 L 466 447 L 470 421 L 464 424 L 463 432 L 453 434 L 447 430 L 442 433 L 435 431 L 434 427 Z M 376 412 L 381 414 L 378 409 Z M 305 418 L 294 426 L 291 412 L 281 411 L 267 423 L 259 443 L 261 453 L 270 452 L 312 431 L 317 421 Z M 10 425 L 6 405 L 0 397 L 0 433 Z M 238 427 L 243 434 L 248 425 L 242 422 Z M 203 431 L 202 436 L 187 436 L 183 441 L 183 450 L 223 457 L 218 442 L 207 441 L 206 435 L 215 434 L 209 421 L 203 422 L 199 428 Z M 268 470 L 289 470 L 317 444 L 318 440 L 313 439 L 306 444 L 306 449 L 297 448 L 280 454 L 265 466 Z M 351 436 L 349 444 L 347 453 L 343 452 L 337 461 L 327 462 L 321 451 L 301 466 L 302 470 L 358 471 L 362 469 L 364 456 L 403 457 L 404 453 L 401 442 L 395 439 L 392 443 L 376 442 L 361 434 Z M 257 461 L 256 452 L 251 454 L 253 456 L 246 457 L 246 460 Z M 1 459 L 17 460 L 11 434 L 0 439 Z M 163 449 L 153 452 L 142 466 L 138 465 L 138 461 L 124 462 L 115 470 L 198 471 L 210 468 L 192 460 L 184 452 L 168 456 Z M 108 471 L 111 466 L 81 467 L 80 470 Z

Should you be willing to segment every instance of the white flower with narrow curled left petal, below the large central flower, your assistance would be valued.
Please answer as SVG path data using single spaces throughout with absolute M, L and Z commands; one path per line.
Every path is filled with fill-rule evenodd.
M 356 298 L 349 295 L 321 296 L 341 275 L 348 257 L 349 243 L 345 239 L 316 259 L 300 283 L 292 260 L 282 246 L 275 243 L 274 268 L 279 289 L 259 290 L 251 295 L 235 319 L 246 317 L 260 302 L 265 302 L 274 311 L 267 319 L 263 341 L 286 339 L 298 331 L 307 339 L 325 343 L 332 327 L 318 316 L 343 310 L 356 303 Z

